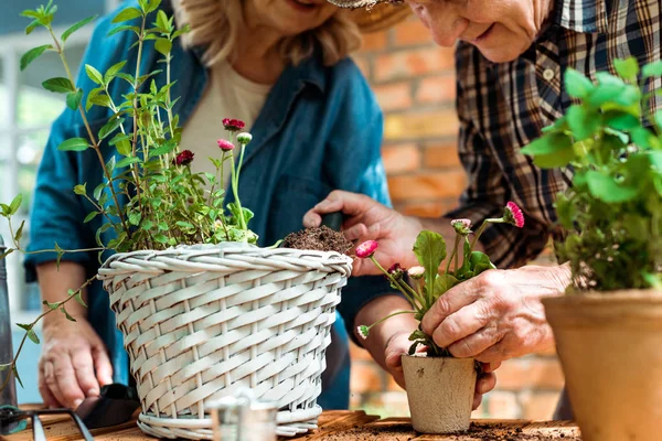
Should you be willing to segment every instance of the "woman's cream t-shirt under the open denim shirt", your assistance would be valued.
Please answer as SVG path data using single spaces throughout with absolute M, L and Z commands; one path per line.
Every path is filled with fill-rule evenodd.
M 181 150 L 191 150 L 195 158 L 191 163 L 193 173 L 215 173 L 209 158 L 221 159 L 222 150 L 216 140 L 228 139 L 223 127 L 224 118 L 241 119 L 246 122 L 244 131 L 250 131 L 259 115 L 270 85 L 257 84 L 237 74 L 228 63 L 217 63 L 209 69 L 209 84 L 193 115 L 182 131 Z M 239 146 L 235 142 L 235 159 Z M 225 162 L 223 180 L 229 183 L 231 161 Z

